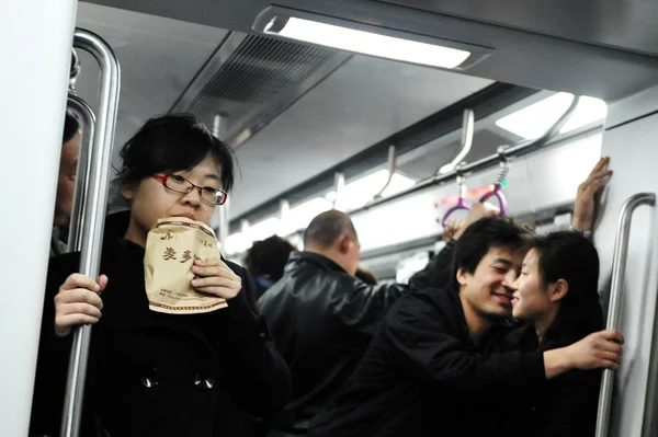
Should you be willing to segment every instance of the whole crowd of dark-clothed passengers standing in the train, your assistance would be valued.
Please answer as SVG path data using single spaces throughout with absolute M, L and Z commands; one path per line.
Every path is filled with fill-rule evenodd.
M 93 324 L 83 437 L 594 435 L 601 369 L 620 367 L 623 344 L 603 331 L 586 232 L 606 159 L 579 186 L 570 231 L 540 237 L 475 204 L 408 284 L 377 283 L 350 217 L 329 210 L 303 251 L 254 244 L 250 272 L 219 253 L 195 261 L 191 286 L 228 307 L 180 315 L 149 310 L 147 234 L 163 217 L 209 225 L 231 150 L 193 116 L 148 120 L 121 150 L 129 209 L 106 218 L 90 278 L 63 243 L 79 129 L 67 113 L 31 436 L 59 435 L 81 324 Z

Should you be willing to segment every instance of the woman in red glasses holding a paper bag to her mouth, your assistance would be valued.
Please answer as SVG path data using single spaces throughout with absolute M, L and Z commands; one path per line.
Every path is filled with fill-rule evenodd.
M 227 300 L 204 314 L 149 310 L 144 256 L 157 220 L 209 223 L 234 183 L 230 149 L 192 116 L 150 119 L 121 152 L 131 210 L 105 226 L 99 278 L 76 274 L 79 253 L 48 268 L 32 433 L 58 435 L 71 330 L 94 324 L 81 436 L 249 436 L 253 416 L 281 410 L 287 367 L 246 296 L 245 269 L 196 261 L 192 287 Z M 94 280 L 97 279 L 97 280 Z

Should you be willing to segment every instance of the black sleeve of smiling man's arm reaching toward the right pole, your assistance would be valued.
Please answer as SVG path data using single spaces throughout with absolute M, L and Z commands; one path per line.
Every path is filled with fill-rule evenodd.
M 546 379 L 542 352 L 480 356 L 419 298 L 408 296 L 394 311 L 379 335 L 390 359 L 422 382 L 440 383 L 466 399 L 497 399 L 524 395 Z

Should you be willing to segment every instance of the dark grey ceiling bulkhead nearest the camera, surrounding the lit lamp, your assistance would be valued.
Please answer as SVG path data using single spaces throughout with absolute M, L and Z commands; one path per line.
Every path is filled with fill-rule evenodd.
M 266 0 L 93 2 L 238 32 L 250 32 L 270 4 Z M 506 83 L 616 100 L 655 84 L 658 77 L 658 59 L 610 48 L 656 53 L 658 5 L 646 0 L 279 0 L 276 4 L 492 47 L 496 51 L 467 73 Z M 445 9 L 440 9 L 443 4 Z M 423 5 L 439 13 L 420 9 Z M 604 46 L 582 44 L 586 39 Z

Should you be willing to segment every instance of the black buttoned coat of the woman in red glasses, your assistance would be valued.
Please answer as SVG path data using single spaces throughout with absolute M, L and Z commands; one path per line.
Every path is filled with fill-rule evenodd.
M 228 308 L 191 315 L 154 312 L 144 286 L 145 251 L 120 234 L 107 229 L 103 244 L 100 272 L 109 284 L 103 317 L 92 330 L 81 436 L 93 435 L 98 422 L 112 437 L 250 435 L 247 413 L 266 417 L 292 391 L 264 320 L 247 303 L 251 278 L 227 263 L 243 285 Z M 78 263 L 73 253 L 48 267 L 34 435 L 59 434 L 72 335 L 55 336 L 53 298 Z

